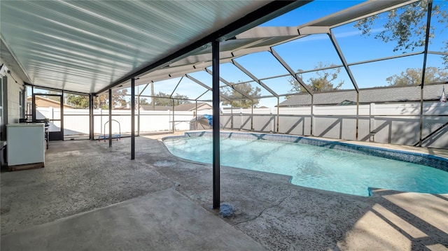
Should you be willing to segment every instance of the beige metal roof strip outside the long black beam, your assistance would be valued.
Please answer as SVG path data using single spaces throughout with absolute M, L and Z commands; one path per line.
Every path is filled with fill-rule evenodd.
M 369 15 L 385 12 L 393 8 L 405 6 L 416 2 L 391 0 L 391 1 L 365 1 L 346 10 L 341 10 L 326 17 L 302 24 L 298 27 L 253 27 L 247 31 L 220 43 L 220 62 L 232 62 L 233 59 L 256 52 L 271 51 L 274 45 L 293 41 L 297 38 L 311 34 L 329 33 L 330 29 L 349 22 L 360 20 Z M 153 69 L 139 76 L 137 84 L 156 82 L 168 78 L 185 76 L 187 73 L 204 71 L 211 66 L 211 48 L 204 46 L 196 51 L 184 55 L 169 64 L 158 69 Z M 123 87 L 129 87 L 130 81 Z

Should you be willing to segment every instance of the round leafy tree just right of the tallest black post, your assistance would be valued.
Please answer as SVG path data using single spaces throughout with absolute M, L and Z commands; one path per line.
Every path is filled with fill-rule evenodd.
M 260 97 L 261 95 L 261 89 L 260 87 L 253 88 L 249 83 L 243 83 L 243 84 L 234 84 L 233 88 L 235 89 L 228 89 L 223 94 L 225 96 L 228 96 L 230 100 L 232 99 L 241 99 L 241 100 L 235 100 L 232 102 L 233 107 L 239 107 L 239 108 L 250 108 L 251 106 L 257 106 L 258 103 L 260 103 Z M 247 96 L 250 96 L 252 100 L 247 99 L 245 96 L 243 96 L 241 93 L 247 94 Z M 230 101 L 223 101 L 223 105 L 230 105 Z

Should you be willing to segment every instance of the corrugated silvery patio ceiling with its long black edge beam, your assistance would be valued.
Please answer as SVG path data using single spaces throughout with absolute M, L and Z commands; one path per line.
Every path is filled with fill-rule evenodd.
M 97 93 L 307 2 L 1 1 L 1 58 L 29 84 Z

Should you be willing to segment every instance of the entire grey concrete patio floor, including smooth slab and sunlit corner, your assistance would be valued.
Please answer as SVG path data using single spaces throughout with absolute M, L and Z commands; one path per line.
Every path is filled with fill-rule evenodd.
M 162 142 L 52 141 L 45 168 L 1 173 L 1 250 L 448 250 L 448 194 L 362 197 L 172 156 Z

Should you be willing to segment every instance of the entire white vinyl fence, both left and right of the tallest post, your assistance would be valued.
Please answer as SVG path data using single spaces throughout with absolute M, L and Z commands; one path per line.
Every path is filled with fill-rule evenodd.
M 49 118 L 60 117 L 59 110 L 38 108 L 38 112 Z M 64 110 L 64 134 L 89 134 L 89 111 L 83 109 Z M 119 131 L 130 134 L 130 110 L 113 110 L 113 134 Z M 136 111 L 136 132 L 190 130 L 195 120 L 193 111 Z M 198 111 L 197 117 L 212 114 L 211 110 Z M 312 115 L 311 115 L 312 114 Z M 299 108 L 251 109 L 233 108 L 223 110 L 223 129 L 258 131 L 265 133 L 295 134 L 356 140 L 356 117 L 358 117 L 358 141 L 374 141 L 398 145 L 414 145 L 419 142 L 420 103 L 391 103 L 361 105 L 356 115 L 356 106 L 314 106 Z M 439 129 L 423 141 L 423 146 L 448 149 L 448 103 L 423 103 L 422 138 Z M 104 134 L 104 125 L 109 120 L 109 110 L 94 110 L 94 133 Z M 109 134 L 109 125 L 106 125 Z

